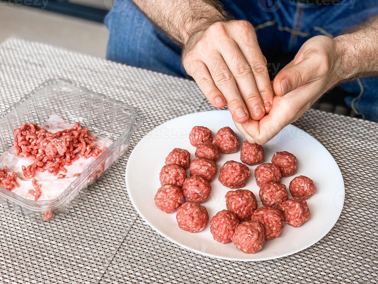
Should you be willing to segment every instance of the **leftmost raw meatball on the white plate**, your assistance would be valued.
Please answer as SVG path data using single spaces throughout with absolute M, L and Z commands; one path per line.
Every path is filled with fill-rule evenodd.
M 155 195 L 155 204 L 166 213 L 175 212 L 184 203 L 184 195 L 181 189 L 172 184 L 166 184 Z

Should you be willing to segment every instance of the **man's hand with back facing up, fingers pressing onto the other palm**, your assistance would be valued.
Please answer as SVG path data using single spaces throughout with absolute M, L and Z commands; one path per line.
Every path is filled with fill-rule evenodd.
M 183 65 L 216 108 L 226 104 L 239 123 L 260 120 L 272 107 L 266 59 L 245 20 L 216 22 L 184 42 Z

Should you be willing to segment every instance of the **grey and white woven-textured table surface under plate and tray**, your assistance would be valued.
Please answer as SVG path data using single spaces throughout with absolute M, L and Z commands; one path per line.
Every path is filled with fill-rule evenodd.
M 131 148 L 167 120 L 212 109 L 189 80 L 19 39 L 0 45 L 0 111 L 56 78 L 139 107 L 145 123 Z M 310 248 L 236 262 L 175 245 L 133 208 L 126 154 L 64 218 L 32 223 L 0 207 L 0 283 L 375 283 L 378 124 L 310 110 L 295 125 L 330 151 L 345 181 L 338 222 Z

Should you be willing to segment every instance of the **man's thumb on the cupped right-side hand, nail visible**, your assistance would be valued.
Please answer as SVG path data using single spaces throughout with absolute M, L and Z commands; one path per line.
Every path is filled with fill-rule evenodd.
M 285 66 L 274 78 L 273 88 L 278 96 L 283 96 L 317 78 L 316 62 L 303 59 L 297 64 Z M 287 68 L 286 68 L 287 67 Z

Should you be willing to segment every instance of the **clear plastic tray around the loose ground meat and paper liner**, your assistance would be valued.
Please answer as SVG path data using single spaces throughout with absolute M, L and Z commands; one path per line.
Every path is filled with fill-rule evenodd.
M 70 81 L 47 81 L 0 114 L 0 154 L 12 146 L 14 129 L 26 122 L 41 125 L 51 114 L 70 123 L 79 121 L 90 133 L 107 136 L 113 144 L 53 200 L 28 200 L 0 187 L 0 203 L 32 221 L 66 215 L 87 194 L 88 186 L 128 150 L 132 134 L 143 123 L 143 114 L 133 106 Z

